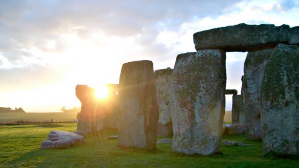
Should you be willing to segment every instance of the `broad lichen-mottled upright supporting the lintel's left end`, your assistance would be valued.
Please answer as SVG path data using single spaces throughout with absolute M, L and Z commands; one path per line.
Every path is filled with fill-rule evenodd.
M 172 72 L 172 151 L 209 155 L 219 151 L 225 112 L 225 52 L 179 54 Z

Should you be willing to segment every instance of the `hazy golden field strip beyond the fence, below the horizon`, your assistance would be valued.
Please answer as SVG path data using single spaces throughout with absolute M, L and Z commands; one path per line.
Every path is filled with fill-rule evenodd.
M 0 112 L 0 123 L 11 123 L 22 120 L 23 122 L 70 122 L 76 119 L 77 113 L 48 112 L 48 113 L 22 113 Z

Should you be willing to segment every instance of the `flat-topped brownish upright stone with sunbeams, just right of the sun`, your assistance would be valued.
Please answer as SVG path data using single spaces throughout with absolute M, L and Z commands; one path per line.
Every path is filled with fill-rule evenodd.
M 123 65 L 118 97 L 119 145 L 156 148 L 159 107 L 151 61 Z

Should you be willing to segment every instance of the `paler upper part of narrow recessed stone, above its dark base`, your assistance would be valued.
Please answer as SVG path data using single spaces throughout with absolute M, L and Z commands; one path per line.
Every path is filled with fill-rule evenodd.
M 170 80 L 171 68 L 160 69 L 155 71 L 156 92 L 159 105 L 159 123 L 167 125 L 171 122 L 170 116 Z

